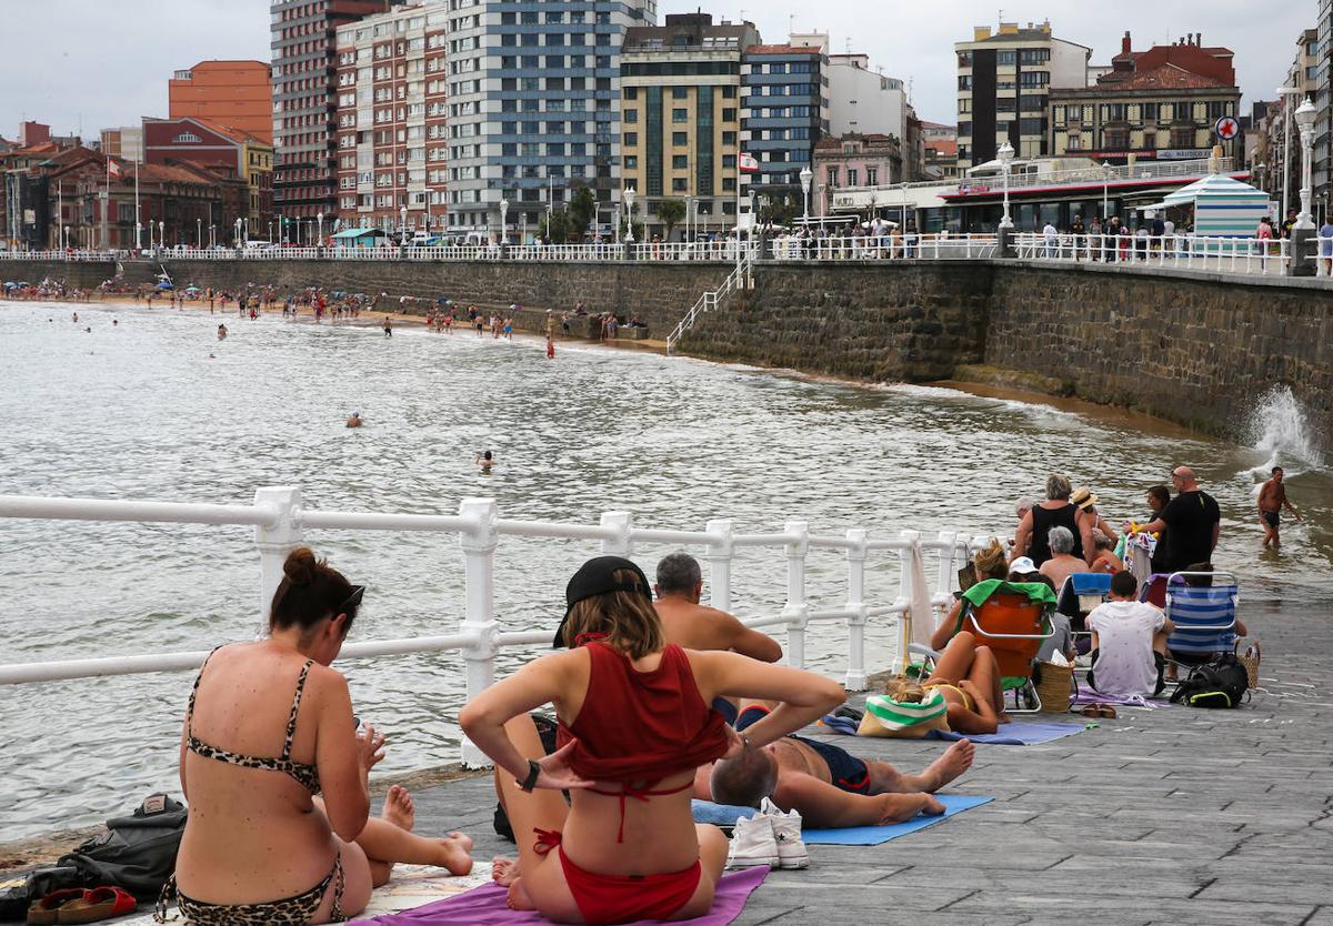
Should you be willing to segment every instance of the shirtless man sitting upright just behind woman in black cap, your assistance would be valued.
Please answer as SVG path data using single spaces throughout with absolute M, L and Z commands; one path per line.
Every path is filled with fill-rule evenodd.
M 688 553 L 672 553 L 657 564 L 657 600 L 653 608 L 663 621 L 668 644 L 685 649 L 729 649 L 761 662 L 782 658 L 782 646 L 768 634 L 750 630 L 726 612 L 698 604 L 704 577 L 698 561 Z

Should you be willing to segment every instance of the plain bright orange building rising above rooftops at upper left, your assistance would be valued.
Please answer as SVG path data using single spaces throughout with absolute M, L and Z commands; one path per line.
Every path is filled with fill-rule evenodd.
M 167 115 L 191 116 L 273 144 L 272 68 L 264 61 L 200 61 L 167 81 Z

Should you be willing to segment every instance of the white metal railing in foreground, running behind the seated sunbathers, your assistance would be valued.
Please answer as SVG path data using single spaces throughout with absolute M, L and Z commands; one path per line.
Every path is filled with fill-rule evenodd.
M 408 530 L 453 533 L 459 536 L 464 565 L 464 616 L 455 633 L 433 637 L 408 637 L 349 644 L 343 654 L 349 658 L 397 656 L 456 650 L 463 656 L 468 698 L 495 681 L 495 661 L 504 648 L 541 645 L 551 640 L 552 629 L 501 630 L 495 614 L 495 553 L 501 537 L 557 537 L 599 541 L 607 554 L 631 556 L 636 544 L 673 544 L 701 550 L 708 562 L 710 601 L 714 608 L 733 610 L 732 561 L 737 549 L 766 548 L 782 552 L 786 560 L 786 601 L 781 612 L 750 617 L 752 628 L 784 628 L 786 657 L 793 666 L 804 666 L 805 630 L 810 624 L 842 624 L 848 628 L 848 669 L 845 685 L 850 690 L 866 686 L 865 628 L 872 620 L 889 618 L 898 629 L 898 669 L 912 640 L 912 604 L 929 596 L 932 609 L 950 601 L 953 574 L 960 558 L 968 556 L 969 538 L 941 533 L 922 538 L 904 530 L 896 537 L 874 537 L 864 528 L 842 536 L 812 534 L 805 521 L 786 521 L 780 532 L 760 534 L 734 533 L 728 520 L 709 521 L 704 530 L 656 529 L 635 525 L 628 512 L 607 512 L 596 525 L 551 521 L 516 521 L 500 517 L 492 498 L 467 498 L 457 514 L 400 514 L 372 512 L 319 512 L 301 505 L 300 489 L 263 488 L 256 490 L 252 505 L 205 505 L 153 501 L 104 501 L 93 498 L 44 498 L 0 496 L 0 517 L 176 522 L 204 525 L 245 525 L 255 528 L 259 550 L 260 581 L 256 614 L 265 614 L 283 578 L 283 561 L 288 552 L 304 542 L 307 529 Z M 805 594 L 806 561 L 812 550 L 841 553 L 846 561 L 846 597 L 829 608 L 814 608 Z M 897 597 L 869 602 L 865 596 L 865 566 L 872 558 L 892 553 L 900 565 Z M 937 560 L 933 588 L 916 588 L 916 557 L 930 553 Z M 926 581 L 930 585 L 930 580 Z M 267 621 L 260 621 L 260 632 Z M 96 660 L 67 660 L 0 665 L 0 685 L 23 685 L 71 678 L 128 676 L 152 672 L 180 672 L 197 668 L 207 653 L 159 653 L 113 656 Z M 463 761 L 487 765 L 487 758 L 464 741 Z

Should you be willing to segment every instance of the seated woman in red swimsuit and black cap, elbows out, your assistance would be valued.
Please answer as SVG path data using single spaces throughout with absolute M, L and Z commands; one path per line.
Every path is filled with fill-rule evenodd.
M 700 917 L 726 838 L 690 817 L 694 769 L 766 746 L 846 694 L 798 669 L 665 645 L 652 585 L 629 560 L 588 561 L 565 601 L 556 641 L 573 649 L 528 664 L 459 714 L 495 759 L 519 841 L 517 866 L 497 859 L 495 877 L 511 906 L 563 923 Z M 720 695 L 782 703 L 740 735 L 709 707 Z M 551 755 L 528 717 L 548 702 L 560 719 Z

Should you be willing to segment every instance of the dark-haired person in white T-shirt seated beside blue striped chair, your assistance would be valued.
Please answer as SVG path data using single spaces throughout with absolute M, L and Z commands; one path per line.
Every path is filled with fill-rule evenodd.
M 1152 605 L 1134 601 L 1130 573 L 1110 580 L 1110 601 L 1088 614 L 1093 634 L 1092 685 L 1105 694 L 1148 697 L 1161 690 L 1170 621 Z

